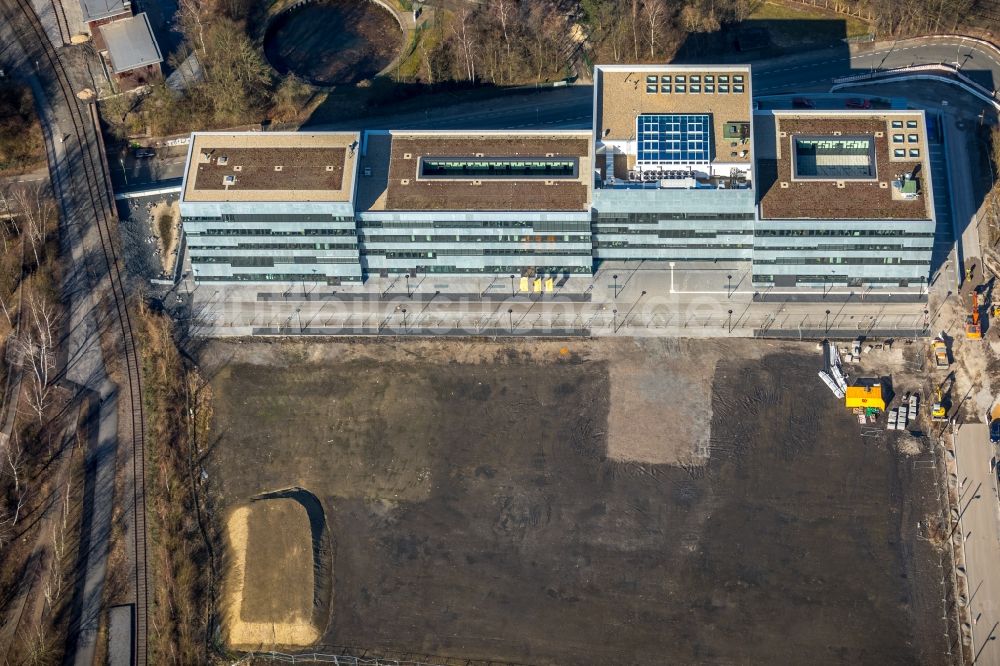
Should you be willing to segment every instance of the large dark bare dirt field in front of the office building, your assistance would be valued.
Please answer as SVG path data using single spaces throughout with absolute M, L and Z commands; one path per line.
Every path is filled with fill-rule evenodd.
M 862 437 L 815 345 L 213 341 L 200 361 L 220 515 L 322 502 L 322 645 L 951 663 L 930 445 Z

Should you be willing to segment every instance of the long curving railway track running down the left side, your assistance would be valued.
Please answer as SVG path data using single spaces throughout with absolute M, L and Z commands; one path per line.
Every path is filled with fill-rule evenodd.
M 85 198 L 87 208 L 93 211 L 96 229 L 100 239 L 109 280 L 111 296 L 110 314 L 115 318 L 120 333 L 123 366 L 127 381 L 128 417 L 118 421 L 118 439 L 121 443 L 131 443 L 132 447 L 132 494 L 135 514 L 133 535 L 135 540 L 135 624 L 133 649 L 137 664 L 147 662 L 147 609 L 149 606 L 149 585 L 147 578 L 146 552 L 146 494 L 145 494 L 145 420 L 142 408 L 141 360 L 136 347 L 133 324 L 128 312 L 128 294 L 122 271 L 122 262 L 117 256 L 113 243 L 115 225 L 114 200 L 111 197 L 110 181 L 101 154 L 100 128 L 96 123 L 96 112 L 90 107 L 85 112 L 73 91 L 72 81 L 59 53 L 48 39 L 45 28 L 29 0 L 0 0 L 9 9 L 22 14 L 30 31 L 21 33 L 22 43 L 37 45 L 34 59 L 51 68 L 56 87 L 53 94 L 61 95 L 67 104 L 72 124 L 72 134 L 67 143 L 75 139 L 80 146 L 80 163 L 74 170 L 74 181 L 86 183 Z M 58 0 L 54 0 L 56 2 Z M 63 13 L 65 21 L 65 13 Z M 12 26 L 13 27 L 13 26 Z M 30 41 L 24 40 L 28 38 Z M 119 390 L 119 399 L 126 397 Z

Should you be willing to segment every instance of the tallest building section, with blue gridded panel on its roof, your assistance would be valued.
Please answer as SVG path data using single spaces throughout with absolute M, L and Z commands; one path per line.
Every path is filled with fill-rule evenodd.
M 749 68 L 602 65 L 594 76 L 595 260 L 749 261 Z

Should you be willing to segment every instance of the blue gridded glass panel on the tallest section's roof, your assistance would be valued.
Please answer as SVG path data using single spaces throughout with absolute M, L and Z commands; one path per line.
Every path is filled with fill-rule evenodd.
M 640 163 L 708 164 L 711 132 L 708 114 L 641 114 L 636 118 L 637 159 Z

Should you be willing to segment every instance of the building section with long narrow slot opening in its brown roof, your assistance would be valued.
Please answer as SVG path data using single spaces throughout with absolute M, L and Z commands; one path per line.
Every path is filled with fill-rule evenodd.
M 590 132 L 367 132 L 368 274 L 589 274 Z

